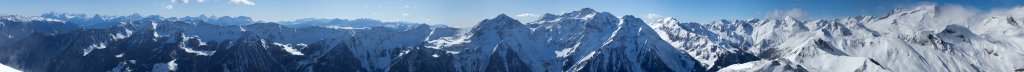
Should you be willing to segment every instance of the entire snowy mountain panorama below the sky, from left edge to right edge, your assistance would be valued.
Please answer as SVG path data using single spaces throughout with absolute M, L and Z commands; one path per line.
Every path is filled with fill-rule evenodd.
M 934 5 L 837 20 L 643 22 L 591 8 L 472 28 L 369 19 L 0 15 L 0 63 L 23 71 L 1008 72 L 1024 15 L 942 23 Z M 1011 11 L 1021 12 L 1021 11 Z

